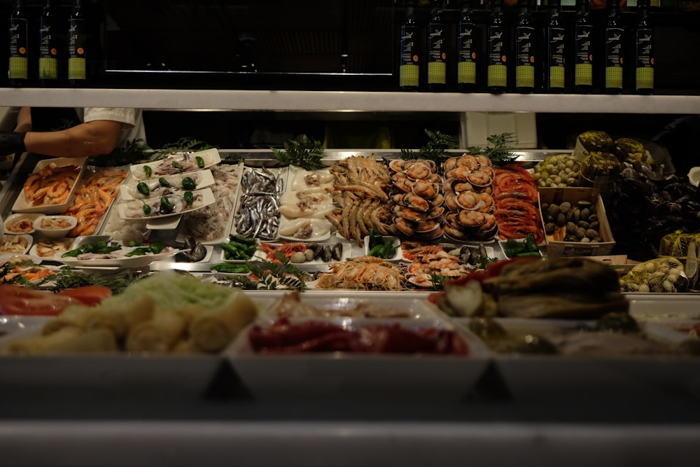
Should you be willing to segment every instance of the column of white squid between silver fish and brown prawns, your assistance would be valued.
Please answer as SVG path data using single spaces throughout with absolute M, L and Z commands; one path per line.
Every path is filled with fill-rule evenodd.
M 325 216 L 335 211 L 332 174 L 327 169 L 289 170 L 288 190 L 279 197 L 279 235 L 316 241 L 329 237 L 332 225 Z

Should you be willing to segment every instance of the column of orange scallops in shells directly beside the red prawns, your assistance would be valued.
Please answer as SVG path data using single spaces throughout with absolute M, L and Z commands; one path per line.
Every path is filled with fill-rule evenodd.
M 493 239 L 499 229 L 494 215 L 491 160 L 465 153 L 445 160 L 444 235 L 458 242 Z

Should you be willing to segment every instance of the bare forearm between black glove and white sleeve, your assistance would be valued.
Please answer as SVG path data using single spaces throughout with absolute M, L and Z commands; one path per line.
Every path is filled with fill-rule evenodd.
M 115 148 L 122 123 L 94 120 L 57 132 L 27 132 L 25 148 L 30 153 L 57 158 L 87 158 L 109 154 Z

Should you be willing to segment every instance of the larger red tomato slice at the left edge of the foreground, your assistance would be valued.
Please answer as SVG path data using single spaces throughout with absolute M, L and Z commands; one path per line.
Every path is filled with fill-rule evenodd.
M 56 316 L 73 298 L 12 284 L 0 285 L 0 314 Z

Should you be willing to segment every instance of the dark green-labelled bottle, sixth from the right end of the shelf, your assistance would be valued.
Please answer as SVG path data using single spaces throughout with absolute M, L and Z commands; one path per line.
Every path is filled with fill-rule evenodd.
M 502 5 L 503 0 L 491 0 L 491 20 L 486 29 L 486 86 L 489 92 L 505 92 L 508 85 L 508 48 Z

